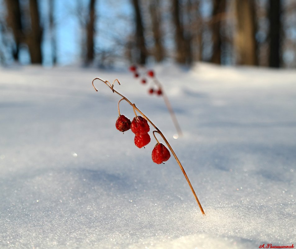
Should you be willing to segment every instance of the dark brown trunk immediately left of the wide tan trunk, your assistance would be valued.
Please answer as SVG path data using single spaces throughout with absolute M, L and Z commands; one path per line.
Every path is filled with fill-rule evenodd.
M 221 16 L 225 13 L 226 1 L 225 0 L 213 0 L 213 12 L 212 12 L 212 42 L 213 53 L 211 62 L 221 64 Z

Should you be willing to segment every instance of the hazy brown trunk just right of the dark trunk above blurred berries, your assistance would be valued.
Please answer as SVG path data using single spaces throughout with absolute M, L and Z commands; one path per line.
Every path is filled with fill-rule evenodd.
M 161 62 L 164 58 L 165 52 L 162 45 L 162 32 L 161 32 L 161 18 L 159 12 L 159 1 L 154 0 L 150 2 L 149 6 L 152 32 L 154 36 L 154 58 L 157 62 Z

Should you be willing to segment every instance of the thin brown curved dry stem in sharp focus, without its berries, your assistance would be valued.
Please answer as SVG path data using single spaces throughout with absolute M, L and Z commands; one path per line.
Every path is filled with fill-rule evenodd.
M 120 95 L 121 97 L 122 97 L 122 99 L 121 100 L 125 100 L 127 103 L 129 103 L 133 108 L 134 108 L 134 112 L 135 112 L 135 110 L 137 110 L 142 116 L 143 116 L 143 118 L 145 118 L 155 129 L 156 129 L 156 132 L 162 137 L 162 139 L 163 139 L 163 141 L 165 141 L 165 143 L 166 143 L 166 145 L 168 146 L 168 148 L 171 150 L 171 153 L 174 155 L 174 157 L 175 157 L 175 159 L 176 159 L 176 161 L 177 161 L 177 163 L 179 164 L 179 166 L 180 166 L 180 168 L 181 168 L 181 170 L 182 170 L 182 172 L 183 172 L 183 174 L 184 174 L 184 176 L 185 176 L 185 178 L 186 178 L 186 180 L 187 180 L 187 182 L 188 182 L 188 184 L 189 184 L 189 187 L 190 187 L 190 189 L 191 189 L 191 191 L 192 191 L 192 193 L 193 193 L 193 195 L 194 195 L 194 197 L 195 197 L 195 200 L 197 201 L 197 203 L 198 203 L 198 206 L 199 206 L 199 208 L 200 208 L 200 210 L 201 210 L 201 212 L 202 212 L 202 214 L 203 215 L 205 215 L 205 212 L 203 211 L 203 207 L 202 207 L 202 205 L 200 204 L 200 202 L 199 202 L 199 200 L 198 200 L 198 198 L 197 198 L 197 196 L 196 196 L 196 194 L 195 194 L 195 191 L 194 191 L 194 189 L 193 189 L 193 187 L 192 187 L 192 185 L 191 185 L 191 182 L 189 181 L 189 178 L 188 178 L 188 176 L 187 176 L 187 174 L 186 174 L 186 172 L 185 172 L 185 170 L 184 170 L 184 168 L 183 168 L 183 166 L 182 166 L 182 164 L 181 164 L 181 162 L 180 162 L 180 160 L 178 159 L 178 157 L 177 157 L 177 155 L 175 154 L 175 152 L 174 152 L 174 150 L 172 149 L 172 147 L 171 147 L 171 145 L 169 144 L 169 142 L 166 140 L 166 138 L 165 138 L 165 136 L 162 134 L 162 132 L 153 124 L 153 122 L 151 122 L 151 120 L 149 119 L 149 118 L 147 118 L 145 115 L 144 115 L 144 113 L 142 113 L 136 106 L 135 106 L 135 104 L 133 104 L 133 103 L 131 103 L 130 102 L 130 100 L 129 99 L 127 99 L 125 96 L 123 96 L 123 95 L 121 95 L 119 92 L 117 92 L 116 90 L 114 90 L 113 89 L 113 86 L 114 86 L 114 82 L 115 81 L 117 81 L 118 82 L 118 84 L 120 85 L 120 83 L 119 83 L 119 81 L 116 79 L 114 82 L 113 82 L 113 84 L 111 85 L 110 84 L 110 82 L 109 81 L 103 81 L 102 79 L 100 79 L 100 78 L 95 78 L 95 79 L 93 79 L 93 81 L 95 81 L 95 80 L 100 80 L 100 81 L 102 81 L 102 82 L 104 82 L 112 91 L 113 91 L 113 93 L 116 93 L 116 94 L 118 94 L 118 95 Z M 93 82 L 92 82 L 92 84 L 93 84 Z M 96 88 L 95 88 L 95 86 L 93 85 L 93 88 L 96 90 L 96 91 L 98 91 Z M 120 100 L 120 101 L 121 101 Z M 136 114 L 137 115 L 137 114 Z M 153 132 L 153 135 L 154 135 L 154 132 Z

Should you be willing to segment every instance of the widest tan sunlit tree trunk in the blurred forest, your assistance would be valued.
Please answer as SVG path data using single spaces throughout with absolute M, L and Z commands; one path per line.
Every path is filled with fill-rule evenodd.
M 235 46 L 238 64 L 258 65 L 255 6 L 254 0 L 235 0 L 237 21 Z

